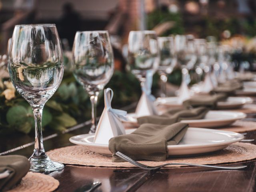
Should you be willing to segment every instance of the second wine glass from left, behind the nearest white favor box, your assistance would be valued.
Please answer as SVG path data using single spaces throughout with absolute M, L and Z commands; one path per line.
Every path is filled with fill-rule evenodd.
M 98 95 L 114 72 L 114 55 L 108 31 L 78 31 L 73 45 L 73 74 L 90 96 L 92 126 L 96 130 Z

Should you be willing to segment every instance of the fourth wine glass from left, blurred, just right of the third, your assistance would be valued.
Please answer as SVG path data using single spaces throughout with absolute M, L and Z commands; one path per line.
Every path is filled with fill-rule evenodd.
M 158 37 L 158 47 L 160 50 L 160 64 L 158 73 L 161 80 L 161 97 L 166 97 L 167 75 L 172 73 L 176 58 L 174 57 L 174 39 L 173 37 Z

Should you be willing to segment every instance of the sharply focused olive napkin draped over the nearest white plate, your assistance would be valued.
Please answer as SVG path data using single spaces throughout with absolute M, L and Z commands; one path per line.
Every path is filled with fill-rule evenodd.
M 168 145 L 176 145 L 183 138 L 188 124 L 172 125 L 143 124 L 131 134 L 120 135 L 109 140 L 112 162 L 123 162 L 116 156 L 121 152 L 134 160 L 164 161 L 168 157 Z

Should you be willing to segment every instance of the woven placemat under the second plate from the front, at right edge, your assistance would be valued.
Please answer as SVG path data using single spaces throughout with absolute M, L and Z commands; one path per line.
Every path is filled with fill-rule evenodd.
M 232 125 L 223 128 L 218 128 L 218 130 L 233 131 L 237 133 L 255 131 L 256 122 L 238 120 L 234 122 Z

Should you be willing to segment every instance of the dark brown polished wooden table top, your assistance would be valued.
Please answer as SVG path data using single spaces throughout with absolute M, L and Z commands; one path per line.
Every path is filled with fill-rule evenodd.
M 248 116 L 256 121 L 256 114 Z M 246 120 L 246 119 L 245 119 Z M 85 122 L 63 133 L 45 132 L 46 151 L 72 145 L 69 138 L 89 131 Z M 246 139 L 255 139 L 256 132 L 248 132 Z M 0 155 L 20 154 L 29 157 L 33 152 L 34 136 L 15 134 L 0 136 Z M 256 144 L 256 142 L 254 142 Z M 256 191 L 256 160 L 244 163 L 243 170 L 217 170 L 184 167 L 145 171 L 139 168 L 101 168 L 66 165 L 62 172 L 50 175 L 60 181 L 59 192 L 72 192 L 94 180 L 102 182 L 95 192 L 253 192 Z

